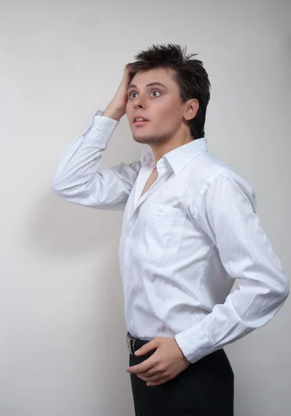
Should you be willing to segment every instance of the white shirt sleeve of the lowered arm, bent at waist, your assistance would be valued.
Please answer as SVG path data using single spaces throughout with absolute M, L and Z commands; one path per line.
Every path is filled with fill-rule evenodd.
M 193 207 L 193 217 L 239 288 L 201 322 L 175 335 L 191 363 L 265 325 L 289 294 L 288 278 L 260 226 L 256 196 L 247 185 L 222 173 L 204 187 Z

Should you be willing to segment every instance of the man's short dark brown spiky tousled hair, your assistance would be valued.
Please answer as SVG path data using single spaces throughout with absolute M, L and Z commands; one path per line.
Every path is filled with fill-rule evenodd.
M 196 116 L 188 121 L 193 139 L 204 137 L 206 107 L 210 99 L 211 84 L 203 67 L 203 62 L 191 59 L 197 53 L 186 55 L 186 46 L 178 44 L 152 45 L 147 51 L 141 51 L 134 56 L 136 62 L 130 66 L 131 80 L 138 71 L 166 68 L 173 69 L 175 81 L 179 85 L 182 104 L 191 98 L 197 98 L 199 109 Z

